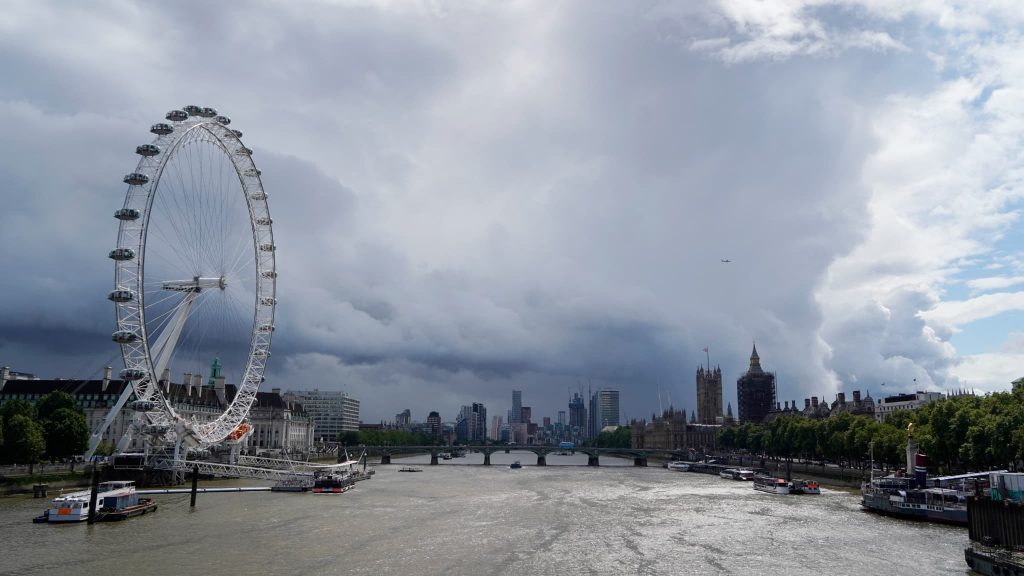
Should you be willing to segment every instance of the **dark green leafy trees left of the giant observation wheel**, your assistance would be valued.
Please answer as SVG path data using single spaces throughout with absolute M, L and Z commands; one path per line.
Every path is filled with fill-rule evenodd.
M 85 452 L 89 424 L 75 397 L 48 394 L 33 406 L 27 400 L 8 400 L 0 406 L 0 462 L 29 464 L 59 461 Z

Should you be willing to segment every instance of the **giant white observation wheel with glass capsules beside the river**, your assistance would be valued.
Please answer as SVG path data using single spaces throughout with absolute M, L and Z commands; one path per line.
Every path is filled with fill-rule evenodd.
M 186 106 L 166 120 L 135 149 L 139 161 L 115 212 L 113 339 L 150 438 L 207 447 L 238 437 L 270 356 L 272 220 L 253 151 L 227 117 Z M 196 379 L 214 358 L 237 393 L 216 414 L 180 414 L 161 382 Z

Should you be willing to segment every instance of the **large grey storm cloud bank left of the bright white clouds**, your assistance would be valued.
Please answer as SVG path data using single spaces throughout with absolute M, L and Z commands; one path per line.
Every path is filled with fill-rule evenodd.
M 270 195 L 268 385 L 344 387 L 367 420 L 504 414 L 513 387 L 554 415 L 607 385 L 641 415 L 693 407 L 705 346 L 727 400 L 755 339 L 782 399 L 830 392 L 829 355 L 850 358 L 816 291 L 863 238 L 864 117 L 899 57 L 723 66 L 680 40 L 729 29 L 703 4 L 67 10 L 26 7 L 0 40 L 16 369 L 67 365 L 48 334 L 109 340 L 118 182 L 190 102 L 232 117 Z

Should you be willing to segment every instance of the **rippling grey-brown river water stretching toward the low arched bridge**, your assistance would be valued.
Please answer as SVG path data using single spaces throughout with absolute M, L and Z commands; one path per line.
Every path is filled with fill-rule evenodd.
M 160 495 L 155 515 L 91 527 L 34 525 L 44 500 L 2 498 L 0 574 L 968 573 L 967 529 L 863 512 L 851 492 L 775 496 L 631 460 L 591 468 L 582 454 L 536 461 L 395 458 L 341 495 L 200 494 L 194 510 L 187 494 Z M 407 463 L 423 471 L 399 472 Z

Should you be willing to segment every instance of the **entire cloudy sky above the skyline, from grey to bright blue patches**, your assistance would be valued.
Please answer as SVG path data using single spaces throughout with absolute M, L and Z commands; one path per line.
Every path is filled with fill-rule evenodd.
M 614 387 L 649 417 L 695 407 L 705 346 L 735 408 L 756 341 L 801 405 L 1007 389 L 1022 24 L 1012 0 L 7 2 L 0 363 L 118 366 L 121 177 L 197 104 L 270 197 L 267 388 L 422 421 Z

